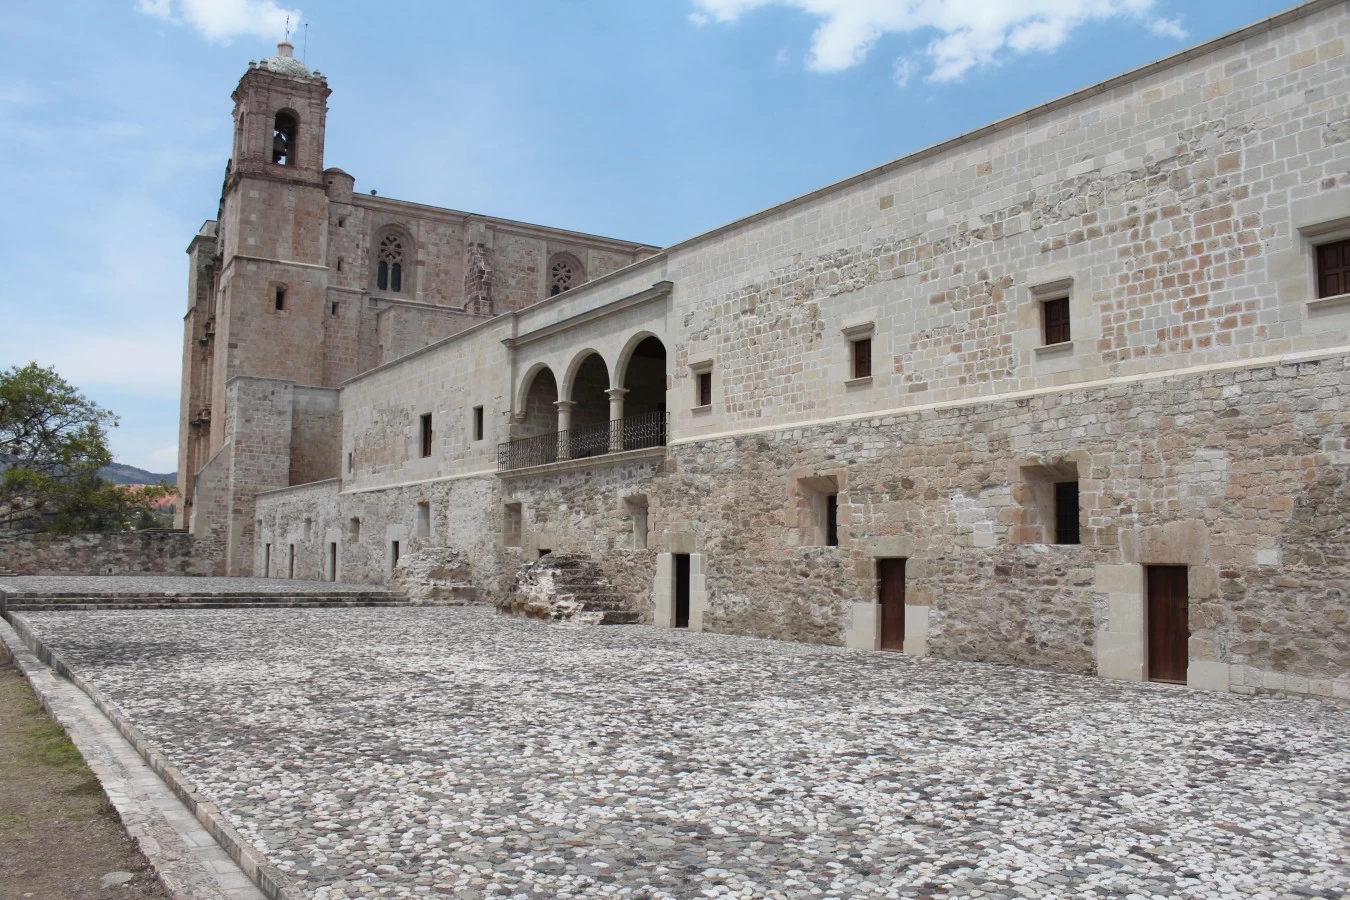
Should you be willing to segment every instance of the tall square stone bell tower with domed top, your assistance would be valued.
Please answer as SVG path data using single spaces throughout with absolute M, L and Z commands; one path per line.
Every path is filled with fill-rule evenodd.
M 219 221 L 189 248 L 211 285 L 189 297 L 180 488 L 185 524 L 225 544 L 231 575 L 252 572 L 254 495 L 290 484 L 294 386 L 323 383 L 329 93 L 289 40 L 248 63 Z

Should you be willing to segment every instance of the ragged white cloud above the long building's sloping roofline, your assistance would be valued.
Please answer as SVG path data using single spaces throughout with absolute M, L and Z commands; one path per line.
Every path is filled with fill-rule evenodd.
M 1183 39 L 1176 18 L 1154 15 L 1157 0 L 693 0 L 698 24 L 734 22 L 767 5 L 799 9 L 819 24 L 811 36 L 807 67 L 842 72 L 867 58 L 884 35 L 936 32 L 923 50 L 929 81 L 957 81 L 979 66 L 1008 55 L 1049 53 L 1088 22 L 1134 20 L 1164 38 Z M 918 66 L 896 63 L 896 82 Z M 900 77 L 903 74 L 903 78 Z

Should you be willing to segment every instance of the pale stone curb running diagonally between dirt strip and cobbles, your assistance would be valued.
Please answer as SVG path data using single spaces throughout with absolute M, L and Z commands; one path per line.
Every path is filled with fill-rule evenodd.
M 146 765 L 163 780 L 182 804 L 197 818 L 197 822 L 215 838 L 216 843 L 230 854 L 230 858 L 258 885 L 258 889 L 269 900 L 304 900 L 300 889 L 292 885 L 275 866 L 269 864 L 262 854 L 239 837 L 215 803 L 198 796 L 193 784 L 177 768 L 170 765 L 159 750 L 154 749 L 144 735 L 127 721 L 115 703 L 105 698 L 99 688 L 76 675 L 59 654 L 54 653 L 32 633 L 32 629 L 28 627 L 28 623 L 20 615 L 5 613 L 4 618 L 14 627 L 15 634 L 23 645 L 39 661 L 69 680 L 93 700 L 99 711 L 108 716 L 108 721 L 117 729 L 117 733 L 135 748 Z

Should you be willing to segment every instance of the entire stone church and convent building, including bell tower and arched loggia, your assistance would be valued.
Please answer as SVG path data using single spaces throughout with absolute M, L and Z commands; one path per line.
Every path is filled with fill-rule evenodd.
M 1350 8 L 656 248 L 360 194 L 239 84 L 189 250 L 185 524 L 231 573 L 1350 698 Z

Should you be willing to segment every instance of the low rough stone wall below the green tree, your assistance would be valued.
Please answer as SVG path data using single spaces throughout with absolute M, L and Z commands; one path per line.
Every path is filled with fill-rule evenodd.
M 219 548 L 184 532 L 27 534 L 0 538 L 15 575 L 219 575 Z

